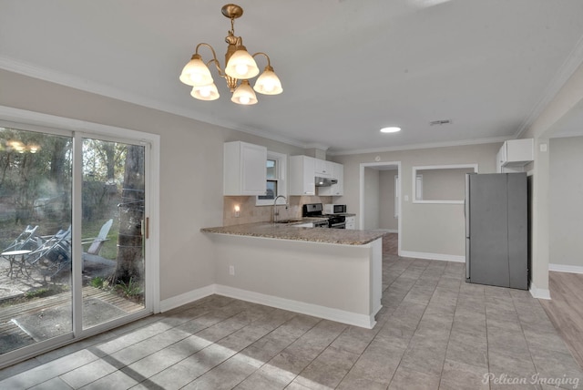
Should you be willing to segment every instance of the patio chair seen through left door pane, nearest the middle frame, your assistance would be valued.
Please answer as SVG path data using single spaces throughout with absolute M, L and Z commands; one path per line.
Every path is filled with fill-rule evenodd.
M 71 264 L 71 227 L 59 230 L 46 241 L 39 240 L 39 246 L 26 258 L 26 262 L 35 267 L 41 275 L 55 276 Z

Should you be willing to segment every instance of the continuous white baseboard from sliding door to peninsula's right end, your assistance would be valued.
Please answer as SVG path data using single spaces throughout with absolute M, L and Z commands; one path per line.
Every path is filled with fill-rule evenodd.
M 160 303 L 160 311 L 167 312 L 183 304 L 198 301 L 201 298 L 209 296 L 213 293 L 218 295 L 228 296 L 230 298 L 240 299 L 251 303 L 260 303 L 266 306 L 276 307 L 278 309 L 289 310 L 290 312 L 302 313 L 312 315 L 314 317 L 323 318 L 326 320 L 336 321 L 338 323 L 347 323 L 349 325 L 360 326 L 367 329 L 372 329 L 376 321 L 374 315 L 378 313 L 383 307 L 379 307 L 372 315 L 358 314 L 346 312 L 339 309 L 332 309 L 330 307 L 320 306 L 312 303 L 303 303 L 299 301 L 292 301 L 289 299 L 279 298 L 276 296 L 266 295 L 260 292 L 250 292 L 234 287 L 224 286 L 221 284 L 210 284 L 191 292 L 185 292 L 178 296 L 166 299 Z

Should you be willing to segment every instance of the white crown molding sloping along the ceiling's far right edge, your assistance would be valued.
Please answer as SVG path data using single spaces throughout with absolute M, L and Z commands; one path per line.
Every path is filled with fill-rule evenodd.
M 579 38 L 577 45 L 573 47 L 573 50 L 571 50 L 563 65 L 558 68 L 555 77 L 548 83 L 543 96 L 518 127 L 516 138 L 520 138 L 532 126 L 535 120 L 542 114 L 543 110 L 557 96 L 558 91 L 567 83 L 568 78 L 573 76 L 573 73 L 575 73 L 581 64 L 583 64 L 583 36 Z

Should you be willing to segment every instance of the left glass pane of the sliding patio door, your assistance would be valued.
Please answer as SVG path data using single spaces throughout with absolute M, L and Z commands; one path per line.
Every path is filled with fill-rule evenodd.
M 72 332 L 72 148 L 0 128 L 0 354 Z

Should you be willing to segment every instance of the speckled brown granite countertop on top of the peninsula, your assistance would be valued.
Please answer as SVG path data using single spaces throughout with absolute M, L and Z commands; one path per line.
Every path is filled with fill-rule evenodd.
M 302 223 L 298 221 L 297 223 Z M 204 233 L 263 237 L 280 240 L 312 241 L 343 245 L 364 245 L 383 237 L 384 231 L 353 231 L 326 228 L 299 228 L 293 224 L 257 222 L 241 225 L 202 228 Z

